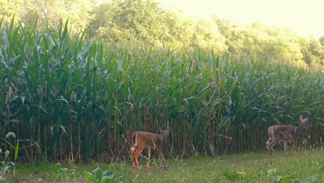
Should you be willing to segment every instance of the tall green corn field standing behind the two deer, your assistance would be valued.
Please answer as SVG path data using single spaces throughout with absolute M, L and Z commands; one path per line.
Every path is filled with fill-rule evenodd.
M 310 116 L 323 146 L 324 75 L 280 62 L 145 46 L 0 23 L 1 137 L 19 158 L 128 156 L 132 132 L 172 127 L 166 157 L 265 150 L 267 128 Z M 15 143 L 12 143 L 15 144 Z M 5 146 L 1 144 L 1 146 Z

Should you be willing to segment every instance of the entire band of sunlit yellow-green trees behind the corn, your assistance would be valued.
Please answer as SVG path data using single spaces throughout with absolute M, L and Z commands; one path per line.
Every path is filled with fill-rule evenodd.
M 2 22 L 15 19 L 23 26 L 69 19 L 74 31 L 89 28 L 104 42 L 174 51 L 199 48 L 324 70 L 323 36 L 302 37 L 259 23 L 233 24 L 217 15 L 211 20 L 184 17 L 154 0 L 0 0 L 0 16 Z

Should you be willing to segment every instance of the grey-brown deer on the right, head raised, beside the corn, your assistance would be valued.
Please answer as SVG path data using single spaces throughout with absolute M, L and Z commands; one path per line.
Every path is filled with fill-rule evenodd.
M 278 143 L 284 143 L 284 151 L 287 150 L 287 142 L 293 142 L 294 148 L 297 150 L 296 146 L 298 143 L 298 136 L 304 128 L 309 127 L 309 116 L 303 119 L 303 115 L 299 117 L 300 122 L 298 126 L 294 125 L 272 125 L 268 128 L 269 140 L 266 142 L 267 150 L 269 156 L 272 158 L 273 147 Z

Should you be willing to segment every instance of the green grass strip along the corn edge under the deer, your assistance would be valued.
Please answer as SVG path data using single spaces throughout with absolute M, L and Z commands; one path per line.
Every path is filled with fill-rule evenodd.
M 147 173 L 145 159 L 137 174 L 130 162 L 118 164 L 89 163 L 55 166 L 48 162 L 17 164 L 16 176 L 10 182 L 89 182 L 83 171 L 96 167 L 124 176 L 125 182 L 323 182 L 324 149 L 300 150 L 298 153 L 276 151 L 273 159 L 266 152 L 240 153 L 217 157 L 197 156 L 188 159 L 168 159 L 165 171 L 159 161 L 152 160 Z M 60 171 L 65 168 L 65 171 Z M 74 172 L 74 173 L 72 173 Z M 64 178 L 69 177 L 69 178 Z

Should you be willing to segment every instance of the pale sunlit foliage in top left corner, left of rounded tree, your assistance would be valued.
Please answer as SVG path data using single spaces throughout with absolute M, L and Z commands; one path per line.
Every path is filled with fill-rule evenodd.
M 45 24 L 63 19 L 70 20 L 70 26 L 76 30 L 83 30 L 92 18 L 89 12 L 94 3 L 85 1 L 60 1 L 60 0 L 4 0 L 0 1 L 0 17 L 10 22 L 15 17 L 16 22 L 28 26 Z

